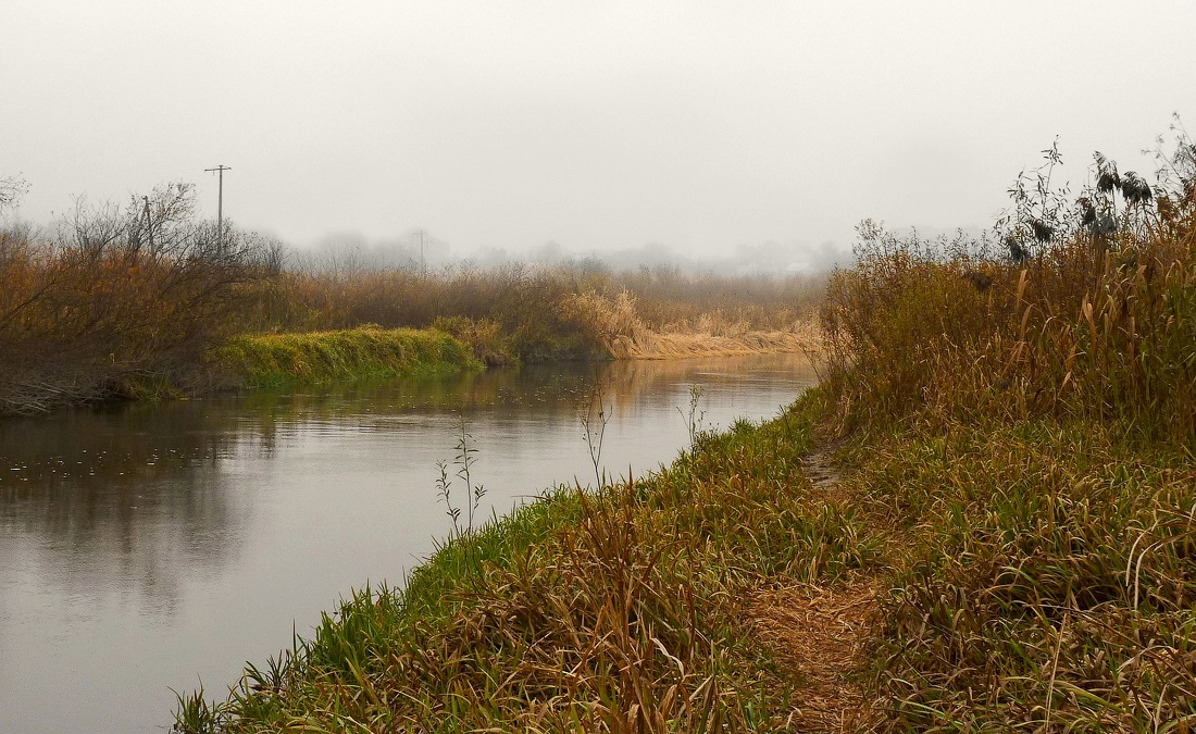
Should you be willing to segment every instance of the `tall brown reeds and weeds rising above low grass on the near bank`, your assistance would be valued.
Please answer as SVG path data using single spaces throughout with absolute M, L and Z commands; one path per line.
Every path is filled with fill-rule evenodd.
M 1178 163 L 1180 185 L 1137 212 L 1141 226 L 1104 234 L 1064 221 L 1070 233 L 1029 259 L 996 257 L 988 241 L 927 243 L 866 222 L 859 264 L 832 279 L 822 307 L 844 422 L 1087 416 L 1190 446 L 1191 153 Z M 1020 255 L 1027 245 L 1008 246 Z

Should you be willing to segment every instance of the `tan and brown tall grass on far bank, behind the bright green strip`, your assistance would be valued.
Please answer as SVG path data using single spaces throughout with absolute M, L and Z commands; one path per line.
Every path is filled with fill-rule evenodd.
M 490 363 L 604 355 L 614 337 L 643 330 L 721 334 L 788 330 L 810 319 L 817 276 L 611 273 L 592 265 L 438 270 L 318 263 L 255 289 L 255 329 L 295 331 L 437 326 Z

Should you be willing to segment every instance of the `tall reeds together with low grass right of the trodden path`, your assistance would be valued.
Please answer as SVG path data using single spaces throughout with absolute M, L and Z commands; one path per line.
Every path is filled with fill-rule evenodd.
M 846 483 L 905 539 L 884 728 L 1196 726 L 1196 148 L 1165 161 L 1015 186 L 995 243 L 866 225 L 831 281 Z

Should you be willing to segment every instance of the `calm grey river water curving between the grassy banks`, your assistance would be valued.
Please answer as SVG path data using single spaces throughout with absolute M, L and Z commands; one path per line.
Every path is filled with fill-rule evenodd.
M 758 421 L 813 384 L 759 356 L 342 384 L 0 422 L 0 732 L 161 732 L 366 581 L 401 585 L 448 528 L 437 461 L 464 418 L 483 512 L 636 475 L 704 426 Z M 678 410 L 681 409 L 681 410 Z M 463 494 L 463 493 L 462 493 Z

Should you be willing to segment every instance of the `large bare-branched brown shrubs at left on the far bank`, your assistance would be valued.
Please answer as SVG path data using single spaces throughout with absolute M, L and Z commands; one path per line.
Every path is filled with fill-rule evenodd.
M 0 415 L 184 383 L 237 330 L 270 249 L 193 208 L 175 185 L 123 212 L 80 204 L 55 233 L 0 230 Z

